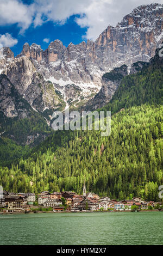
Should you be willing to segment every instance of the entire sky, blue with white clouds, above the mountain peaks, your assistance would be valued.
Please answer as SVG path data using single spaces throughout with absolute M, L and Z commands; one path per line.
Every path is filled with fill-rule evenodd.
M 1 0 L 0 48 L 9 46 L 15 55 L 23 44 L 35 42 L 43 50 L 59 39 L 65 46 L 96 40 L 109 25 L 148 0 Z M 155 1 L 154 1 L 155 2 Z M 163 0 L 157 0 L 163 4 Z M 44 40 L 44 41 L 43 41 Z

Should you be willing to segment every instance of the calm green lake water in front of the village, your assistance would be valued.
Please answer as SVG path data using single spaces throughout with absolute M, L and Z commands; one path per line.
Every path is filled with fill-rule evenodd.
M 163 212 L 0 215 L 0 245 L 162 245 Z

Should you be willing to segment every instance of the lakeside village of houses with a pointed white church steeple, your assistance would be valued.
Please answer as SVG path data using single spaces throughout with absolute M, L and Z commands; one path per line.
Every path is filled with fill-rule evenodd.
M 145 202 L 139 197 L 124 199 L 120 202 L 108 197 L 100 198 L 98 194 L 86 193 L 85 183 L 83 195 L 72 191 L 43 191 L 34 193 L 11 193 L 3 191 L 0 196 L 0 213 L 12 214 L 18 212 L 105 212 L 105 211 L 162 211 L 162 202 Z

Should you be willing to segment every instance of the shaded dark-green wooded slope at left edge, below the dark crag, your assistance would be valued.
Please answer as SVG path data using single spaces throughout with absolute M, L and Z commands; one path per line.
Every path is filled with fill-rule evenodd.
M 31 146 L 35 146 L 43 138 L 51 134 L 51 128 L 39 113 L 33 110 L 27 118 L 6 118 L 0 111 L 0 133 L 5 131 L 5 137 L 0 137 L 0 165 L 9 166 L 22 156 L 30 153 Z M 26 145 L 28 136 L 38 136 L 34 144 Z

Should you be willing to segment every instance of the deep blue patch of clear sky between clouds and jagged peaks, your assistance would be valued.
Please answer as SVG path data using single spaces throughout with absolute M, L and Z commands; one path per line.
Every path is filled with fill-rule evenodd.
M 29 45 L 35 42 L 35 44 L 41 45 L 41 48 L 45 50 L 51 41 L 59 39 L 67 47 L 70 42 L 79 44 L 81 41 L 86 40 L 82 38 L 86 33 L 86 28 L 81 28 L 74 22 L 76 17 L 78 15 L 72 15 L 64 25 L 54 24 L 52 21 L 36 28 L 32 25 L 24 34 L 19 34 L 20 29 L 15 25 L 3 26 L 0 27 L 0 34 L 11 33 L 12 37 L 18 40 L 16 45 L 10 47 L 15 56 L 21 52 L 25 42 L 28 42 Z M 43 39 L 45 38 L 49 42 L 44 42 Z

